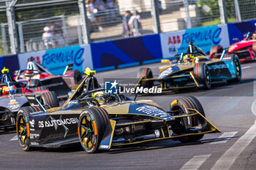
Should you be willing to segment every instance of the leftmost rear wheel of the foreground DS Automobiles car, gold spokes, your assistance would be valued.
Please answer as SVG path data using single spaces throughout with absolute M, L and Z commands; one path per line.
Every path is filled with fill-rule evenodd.
M 18 142 L 24 151 L 30 151 L 29 115 L 34 112 L 32 107 L 22 107 L 16 117 L 16 131 Z

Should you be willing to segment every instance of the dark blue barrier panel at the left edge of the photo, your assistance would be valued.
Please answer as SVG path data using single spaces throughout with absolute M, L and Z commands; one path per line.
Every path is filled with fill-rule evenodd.
M 0 70 L 3 68 L 9 69 L 10 74 L 12 75 L 13 72 L 20 69 L 18 63 L 18 55 L 7 55 L 0 57 Z M 0 72 L 1 75 L 1 72 Z

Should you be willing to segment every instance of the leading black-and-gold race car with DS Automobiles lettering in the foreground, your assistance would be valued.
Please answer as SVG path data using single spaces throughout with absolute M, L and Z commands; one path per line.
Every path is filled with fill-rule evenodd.
M 23 107 L 17 117 L 23 150 L 80 142 L 86 152 L 97 152 L 162 139 L 195 142 L 206 133 L 220 132 L 192 96 L 177 98 L 165 111 L 151 100 L 105 93 L 94 73 L 87 70 L 62 107 L 46 109 L 27 96 L 33 107 Z

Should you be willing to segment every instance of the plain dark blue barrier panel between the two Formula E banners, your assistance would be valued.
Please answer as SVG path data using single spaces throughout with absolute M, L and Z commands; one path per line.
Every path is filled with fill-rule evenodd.
M 162 58 L 159 34 L 92 43 L 91 56 L 94 69 Z

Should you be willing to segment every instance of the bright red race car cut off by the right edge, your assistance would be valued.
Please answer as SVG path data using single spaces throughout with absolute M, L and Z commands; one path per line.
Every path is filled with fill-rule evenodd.
M 237 38 L 233 41 L 238 41 Z M 236 42 L 230 45 L 228 54 L 238 55 L 239 61 L 255 61 L 256 60 L 256 33 L 248 32 L 241 42 Z M 223 52 L 223 47 L 215 45 L 211 47 L 210 58 L 220 58 Z

